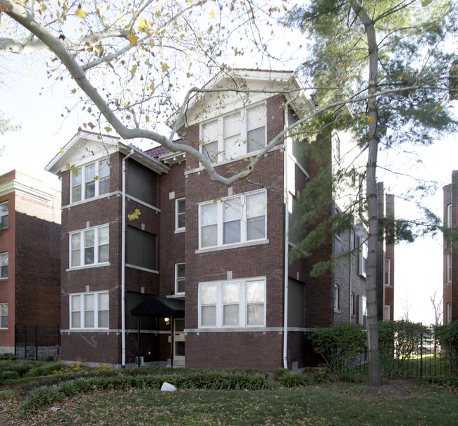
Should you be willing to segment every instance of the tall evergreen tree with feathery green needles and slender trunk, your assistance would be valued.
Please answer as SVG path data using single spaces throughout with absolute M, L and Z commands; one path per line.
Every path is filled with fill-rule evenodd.
M 285 25 L 297 25 L 311 48 L 302 72 L 326 113 L 314 132 L 349 131 L 366 158 L 366 263 L 369 384 L 381 384 L 378 352 L 376 265 L 379 220 L 377 154 L 403 142 L 431 144 L 456 131 L 450 98 L 456 84 L 453 1 L 312 0 L 293 8 Z M 447 44 L 450 43 L 450 44 Z M 455 63 L 454 63 L 455 61 Z M 307 250 L 299 244 L 298 250 Z

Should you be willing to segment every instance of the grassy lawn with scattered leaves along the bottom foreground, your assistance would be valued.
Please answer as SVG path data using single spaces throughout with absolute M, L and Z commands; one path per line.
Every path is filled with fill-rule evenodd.
M 458 425 L 457 394 L 405 383 L 392 382 L 388 394 L 369 394 L 357 384 L 264 391 L 94 391 L 56 403 L 57 411 L 47 407 L 14 424 Z M 400 386 L 402 396 L 397 394 Z M 16 417 L 11 401 L 7 411 Z M 0 413 L 0 420 L 5 419 Z

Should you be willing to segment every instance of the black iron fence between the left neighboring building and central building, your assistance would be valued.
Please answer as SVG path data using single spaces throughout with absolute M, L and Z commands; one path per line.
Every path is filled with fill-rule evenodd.
M 15 325 L 14 336 L 14 354 L 19 359 L 61 359 L 61 330 L 58 325 Z

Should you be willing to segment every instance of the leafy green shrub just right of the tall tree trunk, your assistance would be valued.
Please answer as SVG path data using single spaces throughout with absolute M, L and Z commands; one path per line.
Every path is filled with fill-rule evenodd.
M 414 322 L 378 322 L 378 346 L 383 374 L 392 378 L 408 374 L 407 361 L 417 351 L 423 337 L 429 334 L 428 327 Z

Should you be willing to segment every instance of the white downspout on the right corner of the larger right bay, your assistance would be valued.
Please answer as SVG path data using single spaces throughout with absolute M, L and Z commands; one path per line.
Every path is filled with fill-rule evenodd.
M 287 104 L 285 104 L 285 125 L 288 124 Z M 285 300 L 283 308 L 283 368 L 287 368 L 287 318 L 288 318 L 288 275 L 289 275 L 289 256 L 288 249 L 290 239 L 288 231 L 290 227 L 290 215 L 288 208 L 288 186 L 287 186 L 287 139 L 283 143 L 285 151 L 283 154 L 283 182 L 285 184 Z

